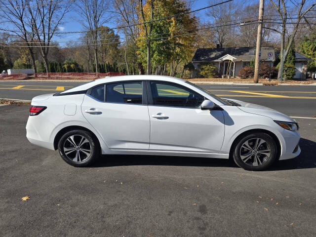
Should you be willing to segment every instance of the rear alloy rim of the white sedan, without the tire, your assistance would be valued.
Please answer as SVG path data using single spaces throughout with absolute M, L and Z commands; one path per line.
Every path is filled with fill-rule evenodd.
M 71 135 L 64 142 L 64 153 L 68 159 L 83 162 L 92 154 L 90 141 L 82 135 Z

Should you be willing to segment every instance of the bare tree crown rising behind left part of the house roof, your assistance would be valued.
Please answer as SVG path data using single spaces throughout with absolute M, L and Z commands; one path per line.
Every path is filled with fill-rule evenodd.
M 218 0 L 210 0 L 210 4 L 216 4 L 218 2 Z M 227 44 L 234 39 L 234 28 L 227 25 L 232 23 L 235 11 L 236 5 L 231 1 L 211 7 L 206 13 L 206 15 L 211 18 L 212 23 L 218 26 L 214 28 L 214 31 L 216 41 L 219 43 L 220 47 L 223 47 L 223 44 Z

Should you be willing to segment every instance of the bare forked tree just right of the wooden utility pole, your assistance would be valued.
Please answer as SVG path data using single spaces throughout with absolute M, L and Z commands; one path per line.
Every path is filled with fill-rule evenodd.
M 293 43 L 293 40 L 295 38 L 296 32 L 299 29 L 301 20 L 304 19 L 304 16 L 316 5 L 316 1 L 311 2 L 309 0 L 300 0 L 300 2 L 292 2 L 295 6 L 297 6 L 297 13 L 294 21 L 290 21 L 290 17 L 288 17 L 288 11 L 291 8 L 291 6 L 288 6 L 285 0 L 270 0 L 270 2 L 273 4 L 274 8 L 276 9 L 276 12 L 279 16 L 278 22 L 281 22 L 281 29 L 278 29 L 276 27 L 265 27 L 266 29 L 273 30 L 281 35 L 281 50 L 280 50 L 280 65 L 278 68 L 277 73 L 277 79 L 282 79 L 282 73 L 283 73 L 283 67 L 284 67 L 284 61 L 285 58 L 291 48 L 291 45 Z M 285 34 L 287 31 L 287 25 L 291 22 L 292 32 L 288 39 L 287 47 L 285 48 Z M 278 24 L 279 25 L 279 24 Z

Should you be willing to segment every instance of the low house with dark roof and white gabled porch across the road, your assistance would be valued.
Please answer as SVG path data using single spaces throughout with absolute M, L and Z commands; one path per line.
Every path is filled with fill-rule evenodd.
M 227 47 L 227 48 L 199 48 L 197 49 L 192 63 L 195 67 L 193 76 L 197 77 L 202 64 L 211 63 L 217 67 L 219 75 L 237 76 L 239 70 L 248 66 L 255 59 L 256 47 Z M 260 62 L 271 64 L 276 62 L 278 52 L 273 46 L 261 47 Z M 307 61 L 309 58 L 295 53 L 294 78 L 305 78 L 307 72 Z

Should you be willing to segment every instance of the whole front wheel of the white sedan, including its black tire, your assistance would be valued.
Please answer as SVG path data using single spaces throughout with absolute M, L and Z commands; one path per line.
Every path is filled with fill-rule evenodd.
M 260 147 L 257 147 L 256 149 L 255 148 L 256 142 L 257 144 L 260 144 L 262 140 L 265 141 L 266 143 L 263 143 Z M 246 145 L 244 143 L 246 143 Z M 251 133 L 251 134 L 245 135 L 243 137 L 240 137 L 237 140 L 237 143 L 235 144 L 236 145 L 234 147 L 234 153 L 233 153 L 234 161 L 239 167 L 245 170 L 253 170 L 253 171 L 265 170 L 269 166 L 271 166 L 277 158 L 278 152 L 277 152 L 276 142 L 267 133 Z M 247 144 L 249 145 L 250 149 L 253 149 L 252 151 L 246 148 Z M 270 149 L 270 155 L 268 154 L 269 149 Z M 251 164 L 251 162 L 253 163 Z

